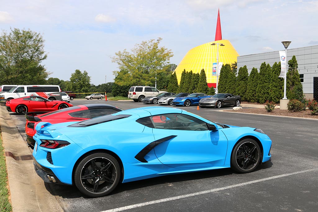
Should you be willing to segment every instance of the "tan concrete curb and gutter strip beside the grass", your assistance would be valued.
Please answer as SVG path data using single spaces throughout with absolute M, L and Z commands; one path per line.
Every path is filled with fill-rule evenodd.
M 31 149 L 5 107 L 0 107 L 0 117 L 13 212 L 63 211 L 56 197 L 47 190 L 49 187 L 45 187 L 44 181 L 34 171 L 33 160 L 24 160 L 25 156 L 32 154 Z

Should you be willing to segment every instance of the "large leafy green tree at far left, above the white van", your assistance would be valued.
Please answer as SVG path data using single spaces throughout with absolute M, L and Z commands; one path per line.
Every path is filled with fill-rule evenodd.
M 41 62 L 47 58 L 44 39 L 31 30 L 11 29 L 0 35 L 0 85 L 45 84 L 50 74 Z

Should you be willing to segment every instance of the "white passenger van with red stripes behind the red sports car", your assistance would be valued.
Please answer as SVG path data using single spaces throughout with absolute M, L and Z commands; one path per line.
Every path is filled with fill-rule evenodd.
M 17 85 L 10 91 L 1 93 L 0 101 L 3 103 L 6 100 L 25 96 L 41 96 L 49 100 L 62 100 L 59 85 Z

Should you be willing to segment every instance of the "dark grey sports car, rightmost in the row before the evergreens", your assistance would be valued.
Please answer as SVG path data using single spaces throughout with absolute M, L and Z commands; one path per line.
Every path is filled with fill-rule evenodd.
M 231 93 L 217 93 L 209 98 L 200 99 L 200 107 L 223 107 L 223 106 L 239 106 L 242 102 L 240 96 L 234 96 Z

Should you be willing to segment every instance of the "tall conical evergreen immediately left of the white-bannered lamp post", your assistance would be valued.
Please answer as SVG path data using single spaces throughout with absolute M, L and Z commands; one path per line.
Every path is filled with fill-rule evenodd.
M 272 67 L 272 79 L 270 84 L 270 101 L 279 103 L 284 96 L 284 78 L 280 78 L 280 62 Z

